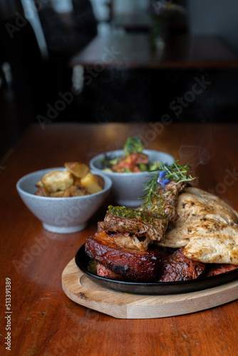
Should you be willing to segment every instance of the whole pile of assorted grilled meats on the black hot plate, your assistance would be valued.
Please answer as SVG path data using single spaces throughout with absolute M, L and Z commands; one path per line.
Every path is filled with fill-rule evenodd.
M 238 213 L 201 189 L 170 182 L 138 209 L 109 206 L 86 253 L 98 276 L 188 281 L 238 268 Z M 163 249 L 179 248 L 173 253 Z M 207 272 L 208 270 L 208 272 Z

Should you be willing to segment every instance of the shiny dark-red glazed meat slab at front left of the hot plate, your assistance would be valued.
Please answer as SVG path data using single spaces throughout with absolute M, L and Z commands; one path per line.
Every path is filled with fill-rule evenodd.
M 86 253 L 91 259 L 120 276 L 124 281 L 149 282 L 157 278 L 161 260 L 165 255 L 162 248 L 136 251 L 115 244 L 113 237 L 103 229 L 86 240 Z

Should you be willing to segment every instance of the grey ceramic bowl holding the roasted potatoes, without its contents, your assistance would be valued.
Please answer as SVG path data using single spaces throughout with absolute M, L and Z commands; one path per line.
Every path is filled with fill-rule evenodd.
M 16 189 L 21 199 L 31 212 L 41 220 L 43 227 L 48 231 L 60 234 L 68 234 L 81 231 L 86 227 L 88 219 L 98 210 L 108 196 L 112 181 L 110 177 L 102 172 L 91 172 L 98 174 L 104 179 L 104 187 L 101 192 L 83 197 L 53 198 L 35 195 L 36 183 L 48 172 L 63 167 L 43 169 L 41 171 L 27 174 L 19 179 Z

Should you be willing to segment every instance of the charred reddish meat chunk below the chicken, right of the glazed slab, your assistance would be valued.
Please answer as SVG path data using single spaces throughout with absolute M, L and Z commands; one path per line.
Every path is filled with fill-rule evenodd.
M 183 254 L 183 248 L 163 259 L 163 270 L 158 282 L 188 281 L 205 274 L 206 263 L 193 261 Z

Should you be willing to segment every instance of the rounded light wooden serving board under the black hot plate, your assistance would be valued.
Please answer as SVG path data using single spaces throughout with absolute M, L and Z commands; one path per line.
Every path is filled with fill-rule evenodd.
M 238 298 L 238 281 L 186 294 L 119 293 L 90 281 L 76 266 L 74 258 L 63 270 L 62 286 L 64 293 L 74 302 L 120 319 L 165 318 L 195 313 Z

